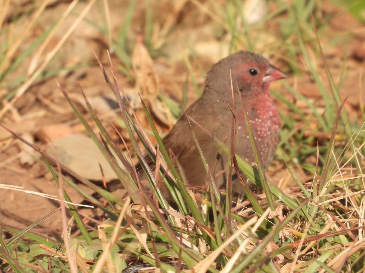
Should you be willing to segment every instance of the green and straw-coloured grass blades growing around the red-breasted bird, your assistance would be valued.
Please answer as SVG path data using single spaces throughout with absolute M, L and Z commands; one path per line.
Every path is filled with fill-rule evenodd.
M 152 2 L 146 1 L 145 5 L 153 4 Z M 5 8 L 8 3 L 5 1 Z M 72 28 L 82 20 L 92 4 L 93 1 L 76 18 Z M 107 4 L 104 2 L 103 6 L 107 7 Z M 193 130 L 191 133 L 209 178 L 208 189 L 201 195 L 193 194 L 189 189 L 183 175 L 180 175 L 176 159 L 171 158 L 165 149 L 150 103 L 139 98 L 143 118 L 147 120 L 150 135 L 153 135 L 157 145 L 151 142 L 139 119 L 140 113 L 137 114 L 133 109 L 123 85 L 118 81 L 120 71 L 131 83 L 135 80 L 131 58 L 134 43 L 130 33 L 134 31 L 135 16 L 141 8 L 137 4 L 139 2 L 134 0 L 128 3 L 123 26 L 116 37 L 109 29 L 110 23 L 107 23 L 109 27 L 105 35 L 114 45 L 115 59 L 121 64 L 118 63 L 115 68 L 111 62 L 114 56 L 109 55 L 108 71 L 97 60 L 101 69 L 100 76 L 104 77 L 106 85 L 115 95 L 123 119 L 124 131 L 116 132 L 120 143 L 111 137 L 109 128 L 113 127 L 117 131 L 114 124 L 104 123 L 99 118 L 88 101 L 87 92 L 81 88 L 88 107 L 88 113 L 84 114 L 71 99 L 69 91 L 57 83 L 74 115 L 115 171 L 118 177 L 116 183 L 122 185 L 130 196 L 122 198 L 103 186 L 91 183 L 63 166 L 57 158 L 39 151 L 35 145 L 13 133 L 14 138 L 41 153 L 41 164 L 47 167 L 55 184 L 59 185 L 58 202 L 64 215 L 61 227 L 63 236 L 49 238 L 31 232 L 32 228 L 54 212 L 23 230 L 0 223 L 3 232 L 0 237 L 0 270 L 120 272 L 129 265 L 142 262 L 161 268 L 162 272 L 181 272 L 183 268 L 188 268 L 191 272 L 213 273 L 363 270 L 364 110 L 360 103 L 358 120 L 351 120 L 349 108 L 346 108 L 348 101 L 340 96 L 348 75 L 347 48 L 351 37 L 347 35 L 344 38 L 346 46 L 339 62 L 340 75 L 335 78 L 332 71 L 334 68 L 326 57 L 328 37 L 325 29 L 328 28 L 331 15 L 322 14 L 322 4 L 318 1 L 270 1 L 266 3 L 268 12 L 256 23 L 247 20 L 243 2 L 236 0 L 177 1 L 172 13 L 162 23 L 158 17 L 158 5 L 142 9 L 145 14 L 142 28 L 144 33 L 137 33 L 137 42 L 145 46 L 146 52 L 155 58 L 153 62 L 150 60 L 152 65 L 161 62 L 165 55 L 165 45 L 171 37 L 177 37 L 174 35 L 180 31 L 178 27 L 189 25 L 184 14 L 197 13 L 203 14 L 204 19 L 219 30 L 214 41 L 228 44 L 226 55 L 241 48 L 271 54 L 273 60 L 286 66 L 294 78 L 292 82 L 282 82 L 282 90 L 272 92 L 280 103 L 283 125 L 274 162 L 275 167 L 278 167 L 274 171 L 270 168 L 267 172 L 272 174 L 271 177 L 261 167 L 251 130 L 249 132 L 257 157 L 257 168 L 234 154 L 234 119 L 227 142 L 229 145 L 218 141 L 211 132 L 206 131 L 221 153 L 227 154 L 232 163 L 229 164 L 231 167 L 228 173 L 232 174 L 239 169 L 245 176 L 241 177 L 245 197 L 233 206 L 236 200 L 231 195 L 231 177 L 228 178 L 224 191 L 217 188 L 212 175 L 214 172 L 210 169 L 212 166 L 206 164 Z M 34 5 L 17 20 L 14 19 L 14 24 L 22 24 L 28 16 L 36 20 L 37 14 L 45 7 L 46 4 Z M 5 35 L 7 42 L 1 49 L 5 58 L 0 63 L 0 85 L 5 83 L 9 74 L 24 59 L 30 55 L 34 57 L 29 74 L 26 75 L 28 78 L 15 93 L 7 94 L 9 106 L 1 110 L 0 116 L 34 83 L 62 46 L 70 33 L 66 33 L 64 39 L 59 41 L 49 58 L 40 60 L 58 24 L 71 14 L 73 8 L 71 4 L 55 25 L 49 27 L 20 54 L 19 43 L 26 36 L 13 39 L 12 25 L 1 29 L 0 35 Z M 3 14 L 0 11 L 0 25 L 4 26 Z M 179 20 L 183 23 L 179 24 Z M 188 46 L 188 42 L 185 44 L 188 54 L 181 55 L 180 61 L 185 65 L 189 79 L 184 75 L 184 89 L 200 95 L 199 78 L 204 75 L 204 66 L 201 65 L 195 48 Z M 18 55 L 14 54 L 14 50 L 18 51 Z M 153 76 L 158 75 L 156 72 Z M 305 88 L 315 88 L 315 97 L 308 96 L 304 87 L 296 84 L 300 77 L 305 77 L 311 83 Z M 161 100 L 165 96 L 154 95 L 155 99 Z M 176 108 L 179 105 L 168 100 L 164 102 L 170 107 Z M 185 106 L 186 103 L 187 92 L 183 95 L 181 105 Z M 176 117 L 180 110 L 177 109 L 172 116 Z M 188 116 L 186 119 L 189 124 L 194 122 Z M 248 122 L 247 127 L 250 128 Z M 134 156 L 138 159 L 137 170 L 132 163 Z M 86 193 L 66 173 L 95 191 L 98 198 L 95 194 Z M 262 187 L 263 193 L 252 193 L 244 183 L 246 178 Z M 281 189 L 273 182 L 283 182 L 285 179 L 292 180 L 293 185 Z M 165 199 L 160 190 L 159 183 L 162 181 L 172 196 L 174 206 L 171 206 L 173 204 Z M 95 211 L 101 211 L 102 217 L 89 217 L 81 206 L 72 203 L 63 183 L 76 189 L 95 206 Z M 107 185 L 108 187 L 111 186 Z M 69 224 L 66 223 L 67 213 L 72 215 Z

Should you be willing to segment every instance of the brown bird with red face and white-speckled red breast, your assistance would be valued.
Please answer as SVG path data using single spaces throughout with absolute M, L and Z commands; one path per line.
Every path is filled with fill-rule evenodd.
M 162 140 L 165 149 L 173 156 L 173 161 L 177 162 L 175 165 L 181 166 L 180 175 L 189 186 L 204 188 L 208 174 L 187 116 L 193 121 L 190 122 L 192 131 L 210 170 L 214 169 L 217 174 L 216 184 L 222 188 L 227 181 L 228 157 L 222 154 L 217 160 L 219 147 L 206 131 L 223 142 L 231 134 L 234 115 L 237 124 L 234 152 L 254 164 L 256 158 L 246 125 L 246 111 L 258 154 L 266 169 L 275 155 L 281 127 L 278 108 L 270 97 L 270 82 L 287 77 L 262 55 L 249 51 L 238 51 L 212 66 L 207 73 L 201 97 L 187 108 L 186 115 L 177 120 Z M 153 165 L 150 159 L 147 162 Z M 139 179 L 145 181 L 146 175 L 141 171 L 141 166 L 137 169 Z M 173 201 L 164 182 L 160 180 L 158 184 L 162 194 L 169 202 Z M 238 194 L 243 193 L 239 179 L 233 181 L 232 190 Z

